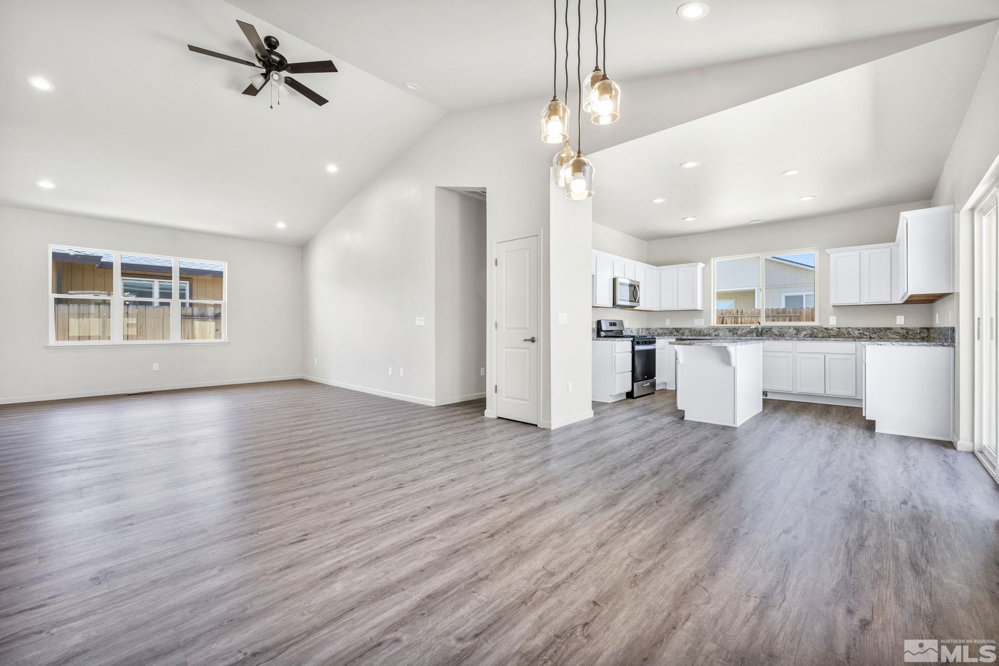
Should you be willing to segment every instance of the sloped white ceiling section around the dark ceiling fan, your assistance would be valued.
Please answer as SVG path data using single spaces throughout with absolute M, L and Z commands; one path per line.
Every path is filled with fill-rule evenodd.
M 252 60 L 236 19 L 293 62 L 332 58 L 297 77 L 330 103 L 271 110 L 240 94 L 259 70 L 188 51 Z M 0 205 L 301 244 L 441 116 L 221 0 L 2 2 L 0 25 Z

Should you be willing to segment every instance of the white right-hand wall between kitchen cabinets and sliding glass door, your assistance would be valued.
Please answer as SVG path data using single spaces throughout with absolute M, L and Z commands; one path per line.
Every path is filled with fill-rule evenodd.
M 999 38 L 997 38 L 999 39 Z M 957 327 L 954 439 L 972 449 L 974 412 L 974 213 L 979 185 L 999 160 L 999 45 L 993 43 L 982 77 L 933 193 L 933 206 L 954 205 L 957 292 L 932 307 L 940 326 Z M 948 321 L 949 320 L 949 321 Z

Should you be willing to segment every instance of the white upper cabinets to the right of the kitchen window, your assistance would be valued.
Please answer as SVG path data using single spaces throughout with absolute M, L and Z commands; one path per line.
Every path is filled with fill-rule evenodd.
M 826 252 L 830 305 L 939 301 L 954 292 L 954 207 L 902 213 L 894 243 Z

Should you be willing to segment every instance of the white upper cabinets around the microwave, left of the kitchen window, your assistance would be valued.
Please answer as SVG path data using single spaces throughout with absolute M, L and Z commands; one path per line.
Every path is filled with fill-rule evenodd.
M 648 266 L 598 250 L 590 262 L 593 307 L 613 307 L 614 278 L 637 281 L 637 310 L 702 310 L 703 264 Z

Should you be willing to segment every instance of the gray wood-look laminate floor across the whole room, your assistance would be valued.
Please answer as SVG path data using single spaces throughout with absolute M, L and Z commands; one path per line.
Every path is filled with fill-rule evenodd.
M 999 638 L 972 454 L 847 407 L 594 410 L 549 432 L 307 381 L 2 406 L 0 663 L 883 665 Z

